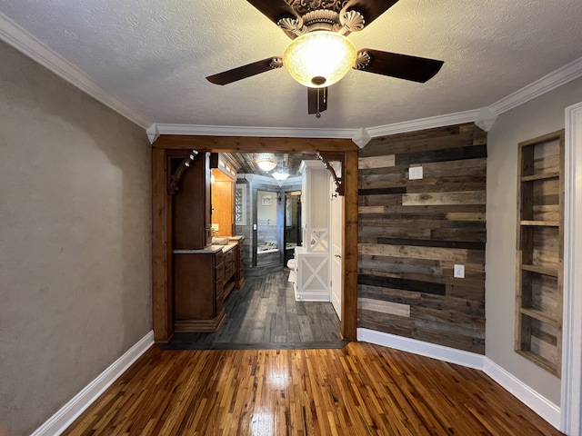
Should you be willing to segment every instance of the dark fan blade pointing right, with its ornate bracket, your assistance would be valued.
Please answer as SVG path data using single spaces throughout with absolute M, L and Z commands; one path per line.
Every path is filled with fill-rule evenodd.
M 366 63 L 366 54 L 369 60 Z M 360 62 L 360 59 L 364 61 Z M 428 79 L 438 73 L 443 61 L 427 59 L 426 57 L 409 56 L 371 50 L 364 48 L 357 52 L 356 70 L 368 73 L 389 75 L 398 79 L 411 80 L 424 84 Z

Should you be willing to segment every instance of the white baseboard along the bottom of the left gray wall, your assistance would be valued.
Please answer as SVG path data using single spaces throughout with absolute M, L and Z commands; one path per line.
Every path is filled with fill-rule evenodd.
M 75 397 L 41 425 L 31 436 L 58 436 L 71 425 L 93 401 L 117 380 L 144 352 L 154 344 L 154 331 L 148 332 L 119 359 L 113 362 L 94 381 L 85 386 Z

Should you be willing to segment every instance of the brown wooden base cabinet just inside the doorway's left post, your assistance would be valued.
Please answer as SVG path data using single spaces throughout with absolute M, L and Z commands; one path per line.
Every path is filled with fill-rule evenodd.
M 221 249 L 174 252 L 176 332 L 216 332 L 225 318 L 225 254 Z

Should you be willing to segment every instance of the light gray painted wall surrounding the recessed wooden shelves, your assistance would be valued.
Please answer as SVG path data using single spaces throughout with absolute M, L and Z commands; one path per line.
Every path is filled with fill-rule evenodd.
M 486 355 L 557 405 L 559 379 L 513 351 L 517 143 L 564 128 L 564 109 L 580 101 L 577 79 L 500 115 L 487 144 Z

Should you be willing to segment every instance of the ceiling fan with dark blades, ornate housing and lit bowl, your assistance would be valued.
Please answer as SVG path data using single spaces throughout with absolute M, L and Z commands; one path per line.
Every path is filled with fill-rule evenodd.
M 286 67 L 307 86 L 307 113 L 319 118 L 327 108 L 327 87 L 355 69 L 425 83 L 443 61 L 363 48 L 346 38 L 359 32 L 398 0 L 247 0 L 293 41 L 283 56 L 273 56 L 206 77 L 231 84 L 246 77 Z

